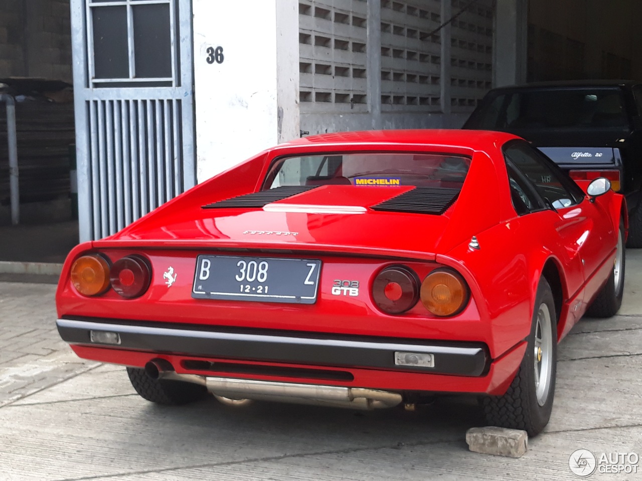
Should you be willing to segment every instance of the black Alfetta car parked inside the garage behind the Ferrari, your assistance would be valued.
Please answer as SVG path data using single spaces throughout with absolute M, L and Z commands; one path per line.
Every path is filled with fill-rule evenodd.
M 625 194 L 628 247 L 642 247 L 642 82 L 567 81 L 490 90 L 464 128 L 519 135 L 571 178 Z

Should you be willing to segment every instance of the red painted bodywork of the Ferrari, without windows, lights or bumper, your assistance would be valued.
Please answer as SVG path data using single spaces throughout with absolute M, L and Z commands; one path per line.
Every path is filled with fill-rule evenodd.
M 480 377 L 345 366 L 341 370 L 349 371 L 354 380 L 343 384 L 400 391 L 503 394 L 523 357 L 523 341 L 530 332 L 535 292 L 544 267 L 552 263 L 560 279 L 561 339 L 584 314 L 611 273 L 618 225 L 621 217 L 626 222 L 627 212 L 622 196 L 609 192 L 595 202 L 585 199 L 580 205 L 557 212 L 546 210 L 518 216 L 510 201 L 501 151 L 506 142 L 514 139 L 518 138 L 486 131 L 372 131 L 318 135 L 269 149 L 201 183 L 121 232 L 76 247 L 65 262 L 58 285 L 58 317 L 483 342 L 492 362 L 489 371 Z M 358 151 L 452 153 L 471 156 L 472 162 L 458 199 L 443 215 L 370 209 L 358 215 L 266 212 L 261 208 L 202 209 L 203 205 L 220 199 L 260 190 L 275 158 Z M 385 187 L 355 189 L 324 185 L 277 203 L 368 208 L 400 192 Z M 299 235 L 251 235 L 248 231 Z M 479 241 L 479 250 L 469 248 L 473 235 Z M 112 262 L 132 253 L 146 256 L 153 270 L 150 289 L 134 300 L 124 300 L 111 290 L 96 298 L 78 294 L 69 282 L 71 264 L 80 255 L 97 251 Z M 199 254 L 266 252 L 277 257 L 305 253 L 308 258 L 313 255 L 322 260 L 315 304 L 191 298 Z M 435 267 L 456 269 L 471 289 L 467 307 L 446 318 L 432 316 L 421 303 L 401 315 L 383 314 L 372 301 L 370 286 L 381 267 L 400 262 L 412 267 L 420 278 Z M 171 288 L 163 278 L 168 266 L 177 273 Z M 362 289 L 357 297 L 338 298 L 330 294 L 337 278 L 358 280 L 368 288 Z M 178 353 L 80 344 L 72 348 L 86 359 L 138 367 L 163 357 L 179 373 L 199 374 L 181 364 L 182 360 L 197 358 Z M 260 360 L 243 362 L 261 364 Z M 324 384 L 306 378 L 251 377 Z

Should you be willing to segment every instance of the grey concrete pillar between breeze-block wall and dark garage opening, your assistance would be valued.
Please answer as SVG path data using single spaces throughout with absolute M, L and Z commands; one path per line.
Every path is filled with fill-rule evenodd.
M 494 87 L 526 81 L 528 0 L 497 0 L 492 78 Z

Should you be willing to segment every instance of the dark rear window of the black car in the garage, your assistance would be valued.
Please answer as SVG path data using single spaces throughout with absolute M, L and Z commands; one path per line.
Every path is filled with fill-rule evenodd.
M 550 89 L 499 93 L 467 128 L 483 130 L 605 130 L 628 125 L 620 89 Z

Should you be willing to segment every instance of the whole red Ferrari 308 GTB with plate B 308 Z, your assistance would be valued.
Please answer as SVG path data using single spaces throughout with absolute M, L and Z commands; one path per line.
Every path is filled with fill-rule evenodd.
M 58 331 L 156 403 L 476 393 L 535 435 L 557 343 L 620 308 L 626 232 L 608 180 L 580 188 L 508 133 L 316 135 L 76 247 Z

